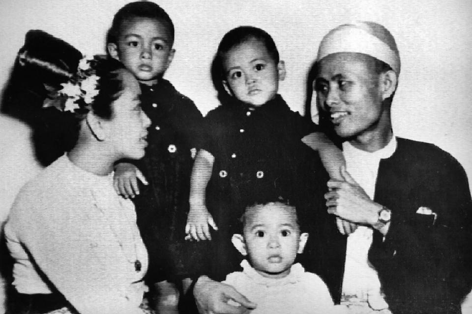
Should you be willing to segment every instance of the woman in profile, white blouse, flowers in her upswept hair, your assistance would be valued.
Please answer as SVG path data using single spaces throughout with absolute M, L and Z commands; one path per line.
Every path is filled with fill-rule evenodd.
M 27 183 L 11 209 L 4 229 L 14 259 L 9 313 L 146 313 L 148 255 L 133 204 L 115 193 L 112 173 L 115 161 L 144 156 L 149 119 L 139 84 L 116 60 L 78 66 L 79 58 L 63 61 L 70 53 L 51 57 L 31 41 L 74 49 L 30 31 L 15 69 L 43 71 L 44 110 L 58 123 L 74 121 L 77 134 L 70 134 L 73 148 Z

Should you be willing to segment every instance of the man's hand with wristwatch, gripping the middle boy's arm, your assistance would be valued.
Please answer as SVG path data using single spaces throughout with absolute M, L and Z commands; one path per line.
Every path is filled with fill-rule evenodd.
M 329 192 L 324 195 L 328 213 L 355 224 L 373 226 L 379 217 L 382 205 L 375 203 L 342 166 L 344 181 L 328 181 Z M 339 224 L 338 224 L 339 228 Z

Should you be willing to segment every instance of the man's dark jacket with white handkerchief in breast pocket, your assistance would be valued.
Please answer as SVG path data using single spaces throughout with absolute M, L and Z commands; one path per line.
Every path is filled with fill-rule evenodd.
M 405 307 L 420 309 L 435 303 L 443 312 L 425 313 L 446 313 L 471 290 L 471 194 L 466 173 L 453 157 L 443 151 L 437 154 L 438 148 L 427 151 L 431 158 L 417 160 L 420 166 L 407 171 L 389 169 L 406 177 L 403 182 L 386 182 L 391 195 L 376 199 L 392 210 L 392 220 L 385 239 L 375 232 L 369 259 L 387 295 L 415 300 Z M 430 208 L 437 218 L 417 213 L 419 207 Z

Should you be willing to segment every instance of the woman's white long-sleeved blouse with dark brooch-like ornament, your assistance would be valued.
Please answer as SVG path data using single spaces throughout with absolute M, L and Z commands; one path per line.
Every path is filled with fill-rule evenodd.
M 18 292 L 54 287 L 81 314 L 142 313 L 148 254 L 134 205 L 116 194 L 113 174 L 60 157 L 22 188 L 5 236 Z

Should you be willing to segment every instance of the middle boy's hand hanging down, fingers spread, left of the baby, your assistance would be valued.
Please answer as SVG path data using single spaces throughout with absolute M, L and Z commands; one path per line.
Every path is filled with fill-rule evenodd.
M 218 230 L 213 217 L 203 204 L 190 204 L 188 212 L 187 225 L 185 226 L 186 240 L 211 240 L 210 225 L 214 230 Z

